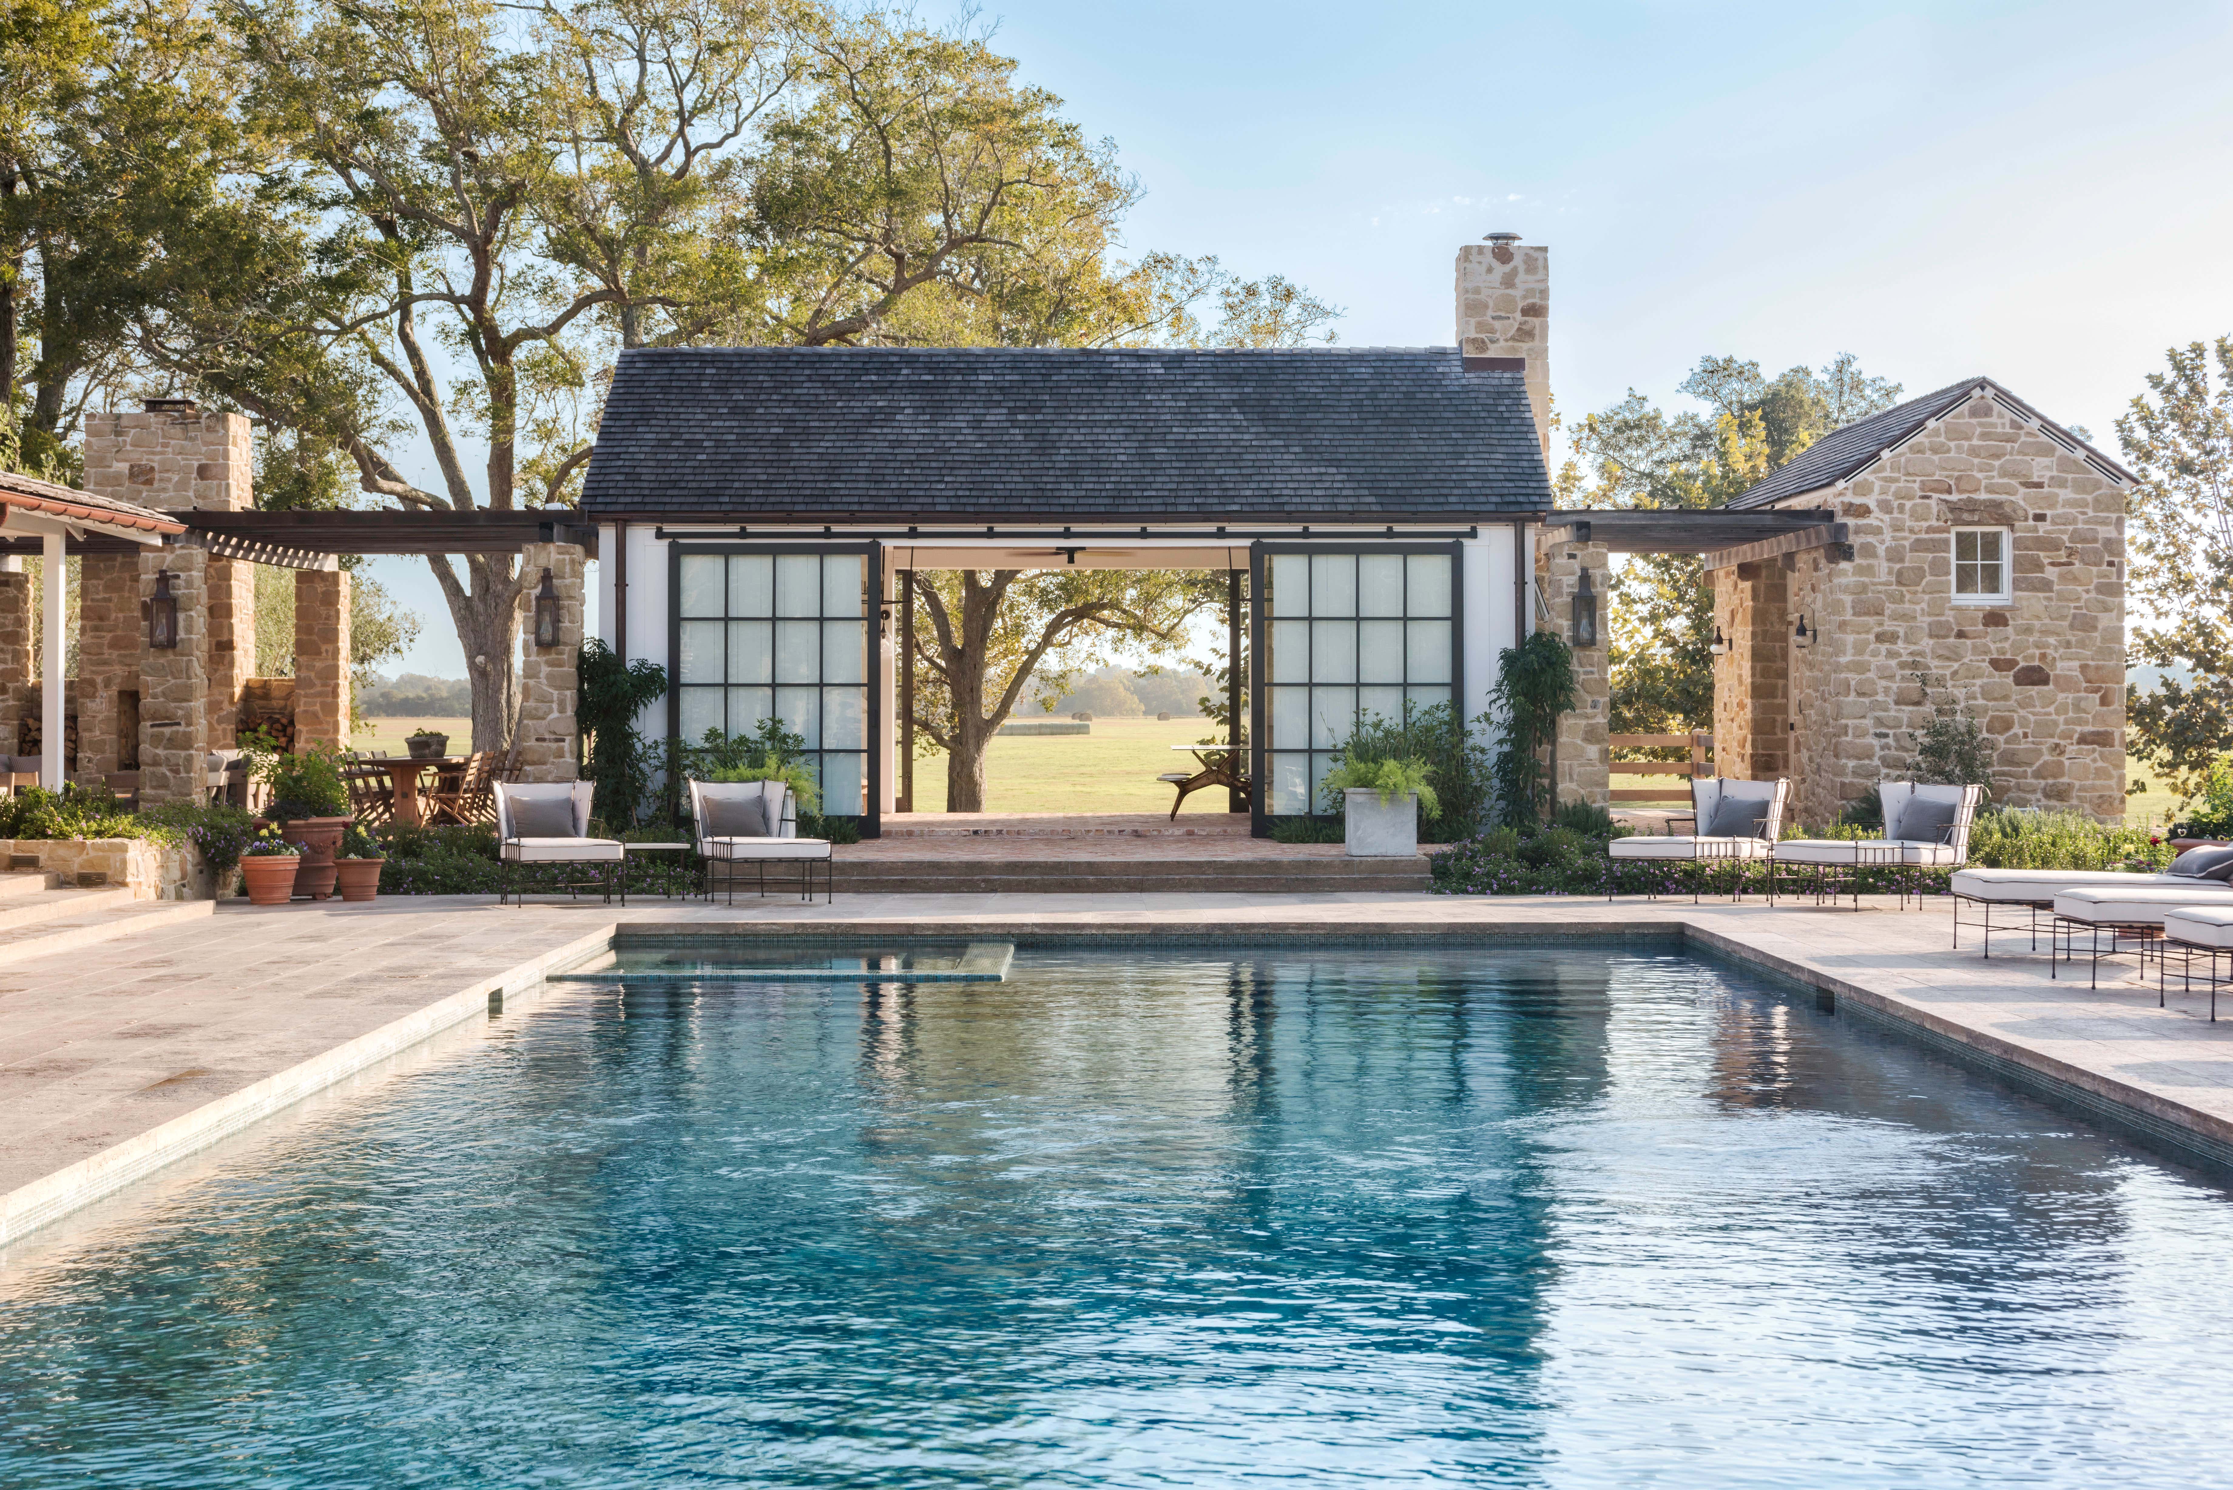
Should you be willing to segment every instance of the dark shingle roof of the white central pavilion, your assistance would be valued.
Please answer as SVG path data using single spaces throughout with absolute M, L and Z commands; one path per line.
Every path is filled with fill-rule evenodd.
M 1456 348 L 621 353 L 592 516 L 1460 518 L 1543 512 L 1516 371 Z

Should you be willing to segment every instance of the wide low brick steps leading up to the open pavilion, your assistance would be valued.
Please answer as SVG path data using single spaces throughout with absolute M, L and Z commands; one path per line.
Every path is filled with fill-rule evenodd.
M 770 873 L 770 887 L 777 876 Z M 1425 891 L 1434 885 L 1425 858 L 1081 858 L 1018 851 L 1003 858 L 840 858 L 837 894 L 971 896 L 971 894 L 1358 894 Z

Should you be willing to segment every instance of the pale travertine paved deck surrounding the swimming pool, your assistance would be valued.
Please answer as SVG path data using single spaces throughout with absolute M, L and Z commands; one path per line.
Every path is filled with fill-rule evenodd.
M 1456 898 L 1425 894 L 840 896 L 623 907 L 482 898 L 243 902 L 0 972 L 0 1244 L 261 1115 L 487 1016 L 491 992 L 598 954 L 616 932 L 931 934 L 1032 940 L 1681 936 L 1831 992 L 1840 1010 L 2233 1162 L 2233 1019 L 2130 961 L 2099 992 L 1996 938 L 1952 952 L 1952 909 Z M 2119 981 L 2124 978 L 2124 981 Z M 2233 1014 L 2233 1003 L 2229 1003 Z M 531 1014 L 527 1014 L 531 1016 Z

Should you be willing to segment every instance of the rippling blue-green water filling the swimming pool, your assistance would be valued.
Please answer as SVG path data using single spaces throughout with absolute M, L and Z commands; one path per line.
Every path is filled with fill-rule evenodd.
M 2211 1486 L 2233 1206 L 1635 949 L 576 985 L 16 1267 L 4 1486 Z

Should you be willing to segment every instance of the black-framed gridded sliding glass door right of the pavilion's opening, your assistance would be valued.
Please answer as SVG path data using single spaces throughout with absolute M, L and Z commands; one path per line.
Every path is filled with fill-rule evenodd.
M 1255 818 L 1322 818 L 1322 782 L 1360 719 L 1458 708 L 1456 543 L 1257 543 Z

